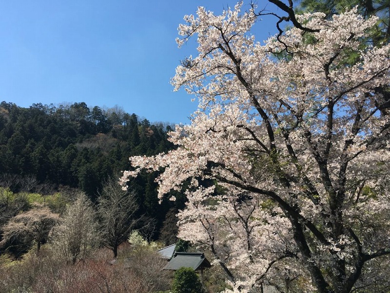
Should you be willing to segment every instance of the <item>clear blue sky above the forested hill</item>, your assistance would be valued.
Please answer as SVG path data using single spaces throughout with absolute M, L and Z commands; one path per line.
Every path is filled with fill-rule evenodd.
M 236 2 L 0 0 L 0 101 L 118 105 L 151 122 L 186 124 L 196 101 L 169 82 L 196 44 L 178 49 L 177 26 L 197 6 L 220 14 Z M 273 9 L 259 0 L 266 5 Z M 256 39 L 274 34 L 275 22 L 263 18 Z

